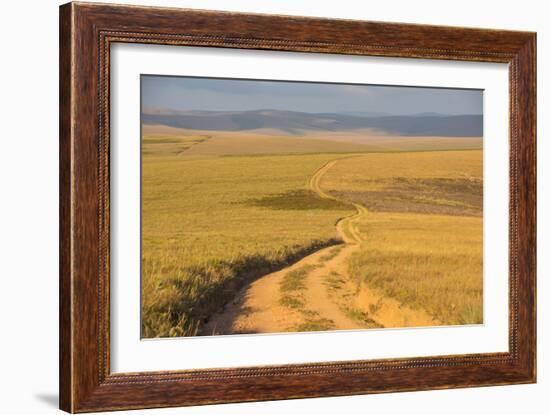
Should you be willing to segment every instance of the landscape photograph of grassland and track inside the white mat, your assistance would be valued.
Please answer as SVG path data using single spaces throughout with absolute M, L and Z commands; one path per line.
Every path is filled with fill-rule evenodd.
M 140 84 L 142 338 L 483 324 L 483 90 Z

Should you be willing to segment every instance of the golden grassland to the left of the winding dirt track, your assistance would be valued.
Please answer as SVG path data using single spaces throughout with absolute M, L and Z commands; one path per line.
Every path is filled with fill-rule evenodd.
M 334 154 L 181 157 L 145 143 L 163 148 L 142 161 L 144 337 L 195 334 L 246 282 L 339 243 L 334 223 L 353 212 L 304 191 Z

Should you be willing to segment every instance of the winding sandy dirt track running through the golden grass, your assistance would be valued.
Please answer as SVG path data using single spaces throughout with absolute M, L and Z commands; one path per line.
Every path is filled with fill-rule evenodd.
M 200 335 L 438 324 L 423 310 L 405 307 L 364 284 L 358 286 L 349 278 L 348 258 L 361 249 L 365 239 L 358 224 L 369 212 L 364 206 L 339 200 L 322 189 L 323 176 L 338 161 L 329 161 L 318 169 L 307 187 L 319 197 L 355 208 L 355 213 L 336 224 L 344 244 L 317 251 L 244 287 L 231 303 L 203 325 Z M 301 275 L 300 284 L 296 289 L 285 289 L 285 278 L 293 273 Z

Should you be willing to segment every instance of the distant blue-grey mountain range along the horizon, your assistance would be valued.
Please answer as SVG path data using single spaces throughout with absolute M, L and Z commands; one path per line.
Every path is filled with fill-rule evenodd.
M 481 137 L 482 115 L 423 113 L 320 113 L 296 111 L 170 111 L 158 108 L 142 112 L 144 124 L 192 130 L 248 131 L 275 129 L 290 135 L 375 129 L 401 136 Z

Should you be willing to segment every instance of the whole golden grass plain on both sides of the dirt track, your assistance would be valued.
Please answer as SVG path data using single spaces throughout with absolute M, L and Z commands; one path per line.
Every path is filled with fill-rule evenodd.
M 481 323 L 481 139 L 464 140 L 144 128 L 142 336 L 196 335 L 252 281 L 342 246 L 336 224 L 354 203 L 368 214 L 355 224 L 361 243 L 338 262 L 347 284 L 434 322 Z M 308 180 L 332 160 L 319 182 L 330 197 L 320 197 Z M 367 311 L 368 327 L 388 326 Z M 336 318 L 315 312 L 288 330 Z

